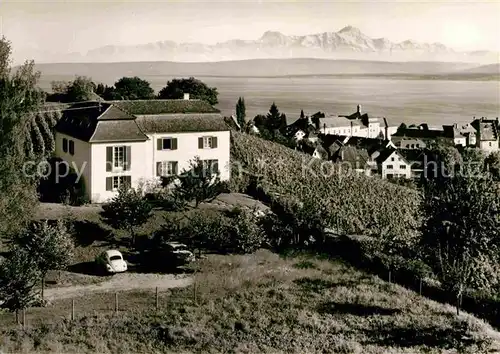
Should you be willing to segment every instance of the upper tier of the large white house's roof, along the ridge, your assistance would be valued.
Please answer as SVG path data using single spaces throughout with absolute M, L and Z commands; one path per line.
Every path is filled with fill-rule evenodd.
M 132 100 L 108 102 L 133 115 L 220 112 L 203 100 Z

